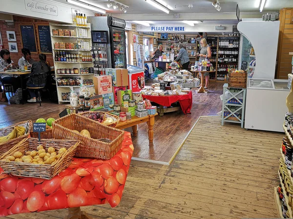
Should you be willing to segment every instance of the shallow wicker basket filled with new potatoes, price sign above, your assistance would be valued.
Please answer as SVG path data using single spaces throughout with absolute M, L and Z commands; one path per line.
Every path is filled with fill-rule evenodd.
M 27 138 L 23 139 L 19 144 L 11 148 L 8 152 L 4 153 L 0 157 L 0 166 L 5 173 L 9 173 L 15 176 L 21 177 L 36 177 L 41 179 L 50 180 L 65 168 L 67 168 L 75 155 L 77 146 L 80 141 L 77 140 L 55 140 L 55 139 L 45 139 L 39 142 L 37 138 Z M 67 150 L 61 155 L 57 160 L 55 165 L 50 164 L 30 164 L 22 162 L 7 162 L 1 161 L 9 155 L 13 155 L 17 151 L 21 151 L 25 154 L 28 150 L 37 150 L 37 146 L 42 145 L 44 149 L 52 146 L 58 151 L 60 148 L 65 147 Z

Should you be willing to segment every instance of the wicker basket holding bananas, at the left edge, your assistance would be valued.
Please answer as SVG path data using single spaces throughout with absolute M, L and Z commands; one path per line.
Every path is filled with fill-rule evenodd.
M 11 139 L 11 140 L 9 140 L 7 142 L 0 143 L 0 155 L 5 153 L 5 152 L 7 152 L 8 150 L 10 150 L 12 147 L 17 145 L 18 143 L 20 143 L 21 140 L 23 140 L 24 138 L 28 138 L 29 130 L 32 127 L 32 121 L 31 120 L 23 121 L 23 122 L 13 124 L 13 125 L 5 127 L 5 128 L 0 128 L 0 136 L 8 135 L 13 130 L 13 128 L 15 126 L 24 127 L 25 128 L 25 134 L 21 135 L 18 138 Z

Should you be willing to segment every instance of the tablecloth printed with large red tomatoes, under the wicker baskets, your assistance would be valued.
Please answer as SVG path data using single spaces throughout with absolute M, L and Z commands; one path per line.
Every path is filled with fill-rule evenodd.
M 119 204 L 133 153 L 129 132 L 110 160 L 73 158 L 51 180 L 9 176 L 0 168 L 0 217 L 68 207 Z

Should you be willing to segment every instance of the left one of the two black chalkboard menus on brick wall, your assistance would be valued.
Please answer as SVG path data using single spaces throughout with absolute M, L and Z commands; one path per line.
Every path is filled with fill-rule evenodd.
M 29 49 L 31 53 L 37 53 L 34 25 L 21 25 L 21 38 L 23 48 Z

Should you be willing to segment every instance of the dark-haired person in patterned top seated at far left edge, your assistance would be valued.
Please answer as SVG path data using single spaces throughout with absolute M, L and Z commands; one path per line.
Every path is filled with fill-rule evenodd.
M 13 61 L 10 58 L 10 52 L 6 49 L 2 49 L 0 51 L 0 72 L 5 72 L 5 71 L 11 70 L 11 69 L 16 69 L 17 67 L 18 67 L 18 65 L 13 63 Z M 12 84 L 14 92 L 16 92 L 17 89 L 21 87 L 20 78 L 13 76 L 13 74 L 0 73 L 0 77 L 1 77 L 2 83 Z M 0 92 L 2 92 L 1 87 L 0 87 Z M 3 99 L 0 99 L 0 101 L 3 101 Z

